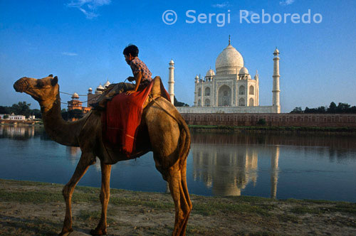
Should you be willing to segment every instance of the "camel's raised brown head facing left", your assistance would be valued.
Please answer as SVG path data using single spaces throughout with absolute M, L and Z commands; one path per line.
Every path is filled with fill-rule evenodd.
M 14 83 L 16 92 L 26 92 L 31 95 L 44 109 L 51 109 L 53 102 L 57 99 L 58 88 L 58 77 L 53 77 L 53 75 L 42 79 L 21 77 Z

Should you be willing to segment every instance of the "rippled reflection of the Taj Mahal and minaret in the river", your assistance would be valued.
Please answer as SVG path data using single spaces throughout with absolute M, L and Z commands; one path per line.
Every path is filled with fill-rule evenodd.
M 199 139 L 199 135 L 195 136 Z M 219 139 L 219 135 L 215 137 Z M 194 181 L 202 181 L 216 196 L 239 196 L 258 181 L 258 149 L 248 145 L 192 141 Z M 212 138 L 214 139 L 214 138 Z M 219 142 L 219 141 L 218 141 Z M 271 146 L 271 198 L 276 198 L 279 146 Z

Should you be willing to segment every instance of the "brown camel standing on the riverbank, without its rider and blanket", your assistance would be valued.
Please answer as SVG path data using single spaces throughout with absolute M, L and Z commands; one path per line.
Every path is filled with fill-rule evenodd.
M 157 80 L 161 82 L 161 80 Z M 154 85 L 155 87 L 155 85 Z M 22 77 L 14 83 L 16 92 L 26 92 L 41 106 L 43 124 L 51 139 L 66 146 L 79 146 L 82 154 L 70 181 L 63 188 L 66 201 L 66 216 L 60 236 L 73 232 L 71 199 L 75 186 L 95 163 L 100 159 L 102 184 L 100 202 L 101 218 L 91 235 L 107 233 L 106 212 L 110 198 L 111 165 L 125 161 L 127 157 L 102 140 L 100 112 L 89 112 L 82 119 L 66 122 L 61 117 L 61 98 L 59 96 L 58 77 L 48 75 L 42 79 Z M 153 89 L 152 89 L 153 91 Z M 152 94 L 152 93 L 151 93 Z M 155 96 L 154 96 L 155 97 Z M 190 134 L 187 124 L 177 109 L 163 97 L 149 102 L 142 113 L 142 120 L 137 132 L 136 154 L 142 156 L 153 152 L 155 166 L 169 183 L 175 205 L 174 230 L 172 235 L 185 235 L 187 221 L 192 210 L 187 188 L 187 156 L 190 148 Z

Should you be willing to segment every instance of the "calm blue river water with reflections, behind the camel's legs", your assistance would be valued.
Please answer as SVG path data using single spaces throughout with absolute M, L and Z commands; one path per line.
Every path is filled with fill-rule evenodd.
M 0 178 L 67 183 L 80 149 L 40 127 L 0 126 Z M 81 186 L 100 187 L 100 163 Z M 189 193 L 356 202 L 356 137 L 326 134 L 192 133 Z M 152 153 L 112 166 L 112 188 L 167 191 Z

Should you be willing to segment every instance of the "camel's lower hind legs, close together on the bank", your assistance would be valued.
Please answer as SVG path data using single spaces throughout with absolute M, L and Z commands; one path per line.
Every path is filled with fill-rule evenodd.
M 167 173 L 167 182 L 175 206 L 175 220 L 173 236 L 185 236 L 187 222 L 192 210 L 192 202 L 189 198 L 186 178 L 186 163 L 182 166 L 179 161 L 174 164 Z

